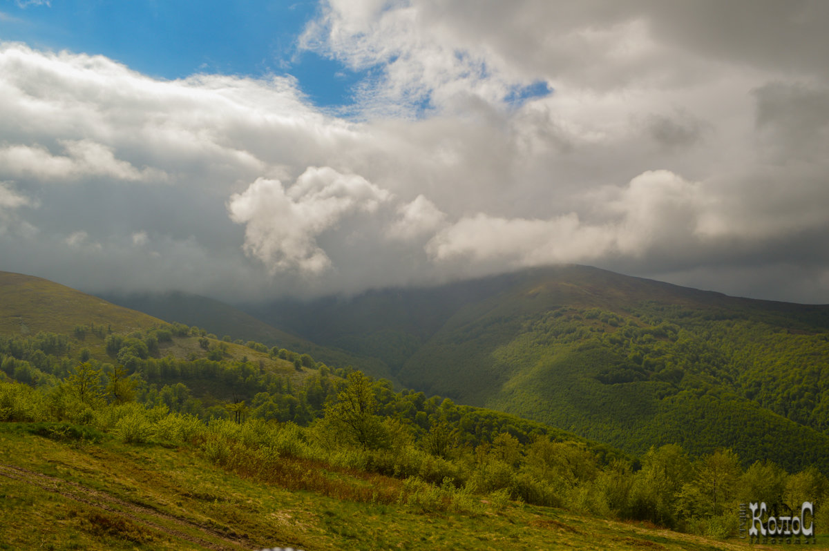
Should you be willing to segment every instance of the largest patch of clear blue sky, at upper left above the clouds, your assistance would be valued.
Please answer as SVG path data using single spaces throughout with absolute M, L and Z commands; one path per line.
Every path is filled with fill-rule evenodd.
M 164 79 L 293 75 L 314 104 L 349 104 L 351 86 L 365 71 L 298 51 L 298 36 L 318 11 L 318 3 L 308 1 L 4 0 L 0 38 L 100 54 Z

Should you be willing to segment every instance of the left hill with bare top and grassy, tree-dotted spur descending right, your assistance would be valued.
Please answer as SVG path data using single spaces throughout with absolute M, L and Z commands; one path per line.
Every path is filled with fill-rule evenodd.
M 204 330 L 171 326 L 158 317 L 20 273 L 0 272 L 0 345 L 0 349 L 11 346 L 25 352 L 18 354 L 17 360 L 27 360 L 32 373 L 45 376 L 67 369 L 56 365 L 61 358 L 88 357 L 109 363 L 120 360 L 132 365 L 130 361 L 165 357 L 207 359 L 211 352 L 216 354 L 215 350 L 221 349 L 227 360 L 261 362 L 274 373 L 303 378 L 303 371 L 296 370 L 292 361 L 274 357 L 267 349 L 219 341 Z M 119 356 L 121 349 L 124 352 Z

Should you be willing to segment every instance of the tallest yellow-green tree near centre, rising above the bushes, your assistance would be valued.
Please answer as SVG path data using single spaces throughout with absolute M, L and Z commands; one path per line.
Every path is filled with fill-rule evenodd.
M 325 418 L 364 450 L 378 448 L 387 443 L 388 434 L 381 418 L 375 414 L 376 408 L 371 379 L 361 371 L 353 371 L 348 374 L 347 386 L 337 394 L 337 400 L 327 404 Z

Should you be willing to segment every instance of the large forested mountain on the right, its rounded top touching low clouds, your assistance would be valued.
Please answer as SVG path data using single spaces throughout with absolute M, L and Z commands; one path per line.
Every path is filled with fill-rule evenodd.
M 829 470 L 829 307 L 585 266 L 248 312 L 401 383 L 641 453 L 678 442 Z

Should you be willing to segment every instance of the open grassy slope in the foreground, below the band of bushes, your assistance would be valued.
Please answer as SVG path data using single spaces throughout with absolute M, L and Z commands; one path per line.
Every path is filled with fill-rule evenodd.
M 0 457 L 0 549 L 702 551 L 745 545 L 516 504 L 473 516 L 337 500 L 235 476 L 187 448 L 128 446 L 108 437 L 55 442 L 28 434 L 22 423 L 0 423 Z M 362 483 L 347 473 L 329 476 L 338 484 Z M 817 541 L 827 549 L 824 537 Z

